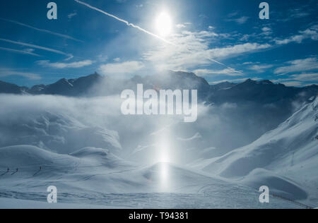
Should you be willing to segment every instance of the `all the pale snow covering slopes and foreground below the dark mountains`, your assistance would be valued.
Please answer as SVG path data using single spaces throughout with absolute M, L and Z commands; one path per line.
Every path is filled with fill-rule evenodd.
M 303 207 L 275 196 L 259 203 L 263 185 L 273 195 L 318 203 L 317 100 L 221 157 L 210 156 L 216 147 L 201 149 L 205 136 L 196 128 L 177 137 L 172 133 L 184 124 L 153 131 L 151 121 L 114 116 L 118 104 L 111 98 L 0 95 L 0 100 L 6 103 L 0 109 L 0 208 Z M 131 128 L 145 133 L 129 135 Z M 124 154 L 122 143 L 136 137 L 143 144 Z M 169 142 L 173 147 L 166 152 L 174 159 L 164 162 L 155 152 Z M 189 151 L 192 156 L 184 155 Z M 57 186 L 57 205 L 45 203 L 48 186 Z

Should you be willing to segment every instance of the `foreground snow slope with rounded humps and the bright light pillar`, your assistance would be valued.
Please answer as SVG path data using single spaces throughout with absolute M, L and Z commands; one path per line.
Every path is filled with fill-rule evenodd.
M 93 147 L 71 155 L 0 148 L 0 182 L 0 208 L 301 208 L 279 198 L 261 204 L 246 186 L 169 163 L 137 167 Z M 57 187 L 57 205 L 45 204 L 48 186 Z

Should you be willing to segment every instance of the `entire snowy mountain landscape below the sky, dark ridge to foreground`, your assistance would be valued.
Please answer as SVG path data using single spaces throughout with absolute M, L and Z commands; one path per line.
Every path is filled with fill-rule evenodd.
M 123 116 L 116 94 L 136 83 L 200 88 L 206 100 L 199 103 L 198 121 Z M 261 205 L 258 188 L 266 185 L 317 207 L 317 99 L 308 100 L 317 86 L 252 80 L 211 86 L 182 72 L 131 80 L 95 73 L 31 89 L 6 86 L 1 90 L 11 95 L 0 94 L 0 207 L 14 204 L 12 198 L 45 202 L 51 185 L 61 203 L 299 207 L 275 197 Z M 77 97 L 84 95 L 111 96 Z

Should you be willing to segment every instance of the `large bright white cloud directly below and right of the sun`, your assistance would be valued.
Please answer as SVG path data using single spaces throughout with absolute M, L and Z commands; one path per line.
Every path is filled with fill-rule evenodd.
M 271 47 L 270 44 L 245 43 L 211 49 L 211 43 L 219 37 L 227 37 L 216 32 L 184 31 L 171 35 L 174 45 L 155 45 L 153 49 L 143 54 L 145 61 L 150 61 L 155 68 L 186 71 L 198 66 L 224 64 L 216 61 L 240 54 L 252 53 Z

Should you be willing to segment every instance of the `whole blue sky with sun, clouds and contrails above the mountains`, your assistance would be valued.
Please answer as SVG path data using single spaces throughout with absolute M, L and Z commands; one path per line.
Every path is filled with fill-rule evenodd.
M 131 78 L 174 70 L 209 83 L 318 83 L 318 1 L 267 1 L 269 20 L 259 19 L 256 0 L 83 1 L 117 19 L 74 0 L 54 1 L 57 20 L 47 19 L 49 1 L 1 1 L 0 80 L 32 86 L 95 71 Z

